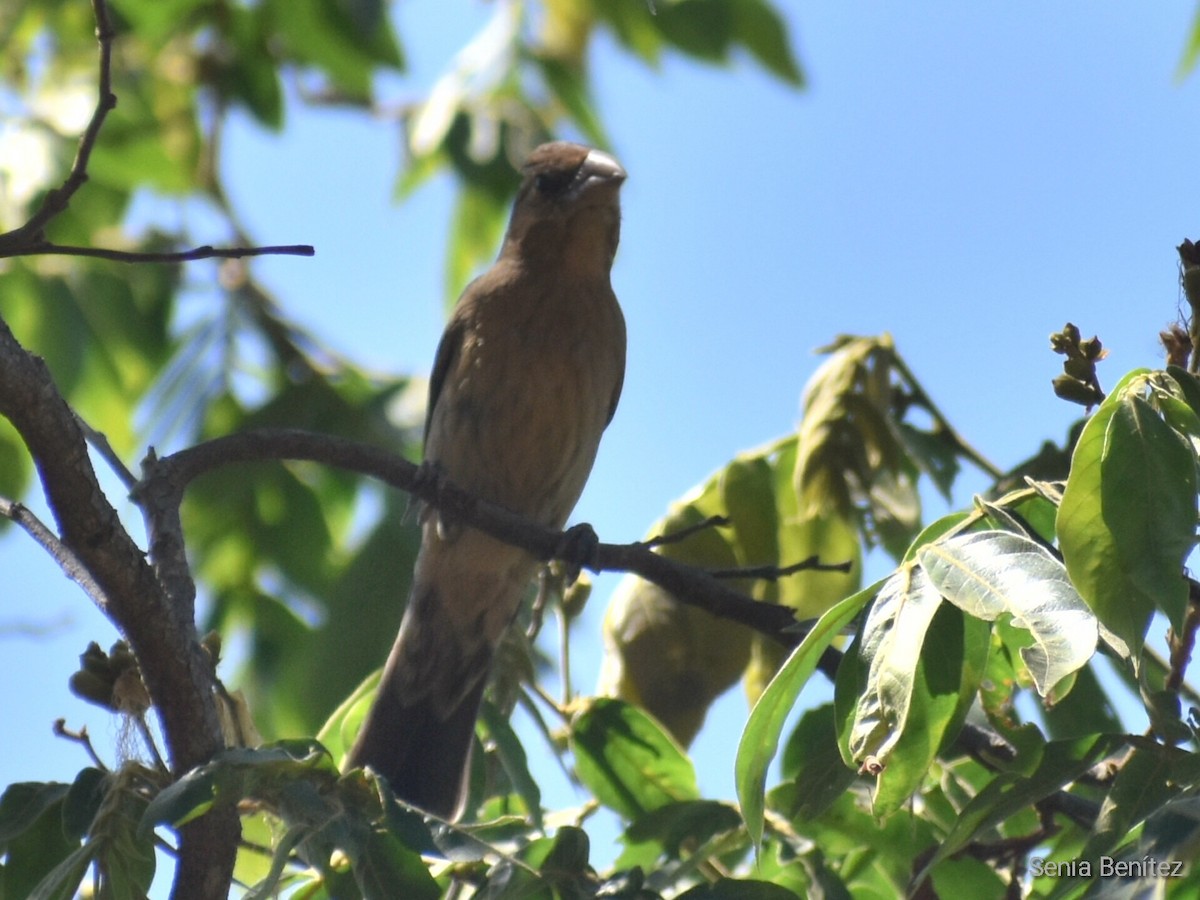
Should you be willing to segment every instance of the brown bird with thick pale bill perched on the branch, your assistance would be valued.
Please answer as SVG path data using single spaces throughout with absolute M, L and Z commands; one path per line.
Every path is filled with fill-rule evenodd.
M 438 346 L 425 458 L 475 497 L 562 528 L 625 373 L 608 281 L 625 170 L 560 142 L 534 150 L 523 175 L 499 258 L 463 292 Z M 371 766 L 430 812 L 462 814 L 492 655 L 538 564 L 422 512 L 408 607 L 348 766 Z

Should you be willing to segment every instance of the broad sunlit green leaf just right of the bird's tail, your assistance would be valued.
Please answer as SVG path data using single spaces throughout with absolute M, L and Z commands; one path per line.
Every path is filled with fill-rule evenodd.
M 646 713 L 594 697 L 571 718 L 580 780 L 628 820 L 677 800 L 700 799 L 696 772 L 679 746 Z

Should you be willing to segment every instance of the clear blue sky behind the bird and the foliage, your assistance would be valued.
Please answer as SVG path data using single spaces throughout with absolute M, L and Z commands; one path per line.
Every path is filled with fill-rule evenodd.
M 625 392 L 576 511 L 604 540 L 642 536 L 736 452 L 792 428 L 811 350 L 839 332 L 890 331 L 950 421 L 1007 467 L 1076 416 L 1050 391 L 1051 331 L 1099 334 L 1110 386 L 1160 362 L 1157 332 L 1182 302 L 1175 245 L 1200 238 L 1200 74 L 1175 77 L 1193 2 L 779 5 L 803 91 L 746 59 L 666 58 L 655 72 L 607 36 L 596 48 L 598 103 L 630 174 L 613 275 Z M 419 97 L 493 8 L 397 6 L 413 72 L 385 98 Z M 287 312 L 370 368 L 426 372 L 449 184 L 395 204 L 398 127 L 347 113 L 293 107 L 281 136 L 239 120 L 228 142 L 256 239 L 317 247 L 254 264 Z M 965 481 L 959 505 L 983 486 Z M 88 640 L 114 635 L 20 535 L 0 541 L 0 677 L 18 685 L 0 709 L 22 732 L 0 781 L 70 780 L 85 761 L 49 725 L 89 722 L 110 748 L 118 726 L 66 678 Z M 580 686 L 594 683 L 614 583 L 601 580 L 580 629 Z M 722 704 L 726 727 L 702 738 L 710 794 L 732 798 L 744 715 L 739 697 Z

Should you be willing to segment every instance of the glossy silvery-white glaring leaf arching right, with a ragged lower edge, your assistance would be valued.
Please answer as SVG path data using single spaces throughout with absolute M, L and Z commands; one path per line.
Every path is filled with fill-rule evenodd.
M 1012 616 L 1033 647 L 1021 649 L 1043 697 L 1096 653 L 1096 617 L 1067 570 L 1039 544 L 1007 532 L 955 535 L 918 551 L 942 596 L 986 622 Z

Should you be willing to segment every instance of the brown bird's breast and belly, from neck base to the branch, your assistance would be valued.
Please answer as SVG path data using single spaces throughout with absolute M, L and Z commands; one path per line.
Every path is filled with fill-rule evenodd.
M 510 290 L 474 311 L 426 439 L 451 481 L 563 526 L 624 372 L 624 323 L 604 287 Z

